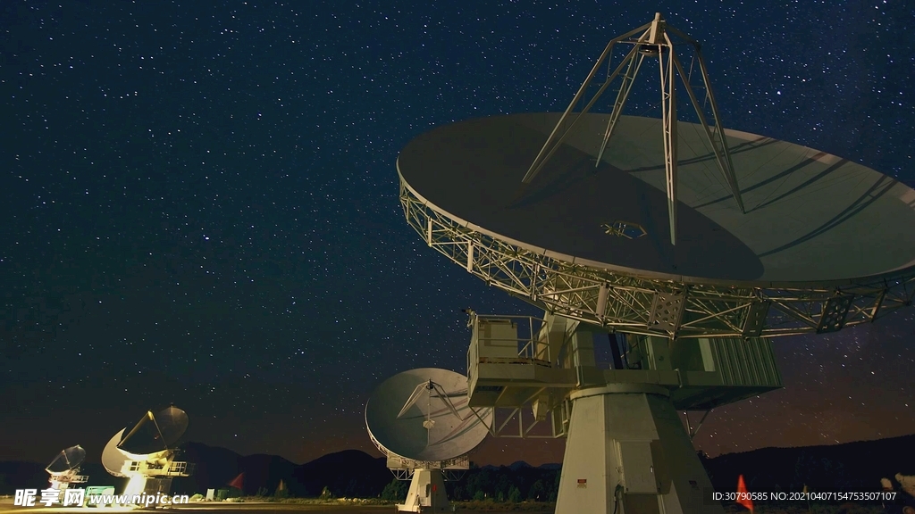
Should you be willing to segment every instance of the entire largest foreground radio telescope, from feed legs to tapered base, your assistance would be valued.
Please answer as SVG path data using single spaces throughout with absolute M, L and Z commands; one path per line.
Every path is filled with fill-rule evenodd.
M 622 115 L 651 68 L 661 119 Z M 610 112 L 590 112 L 614 82 Z M 677 120 L 678 89 L 699 123 Z M 870 323 L 915 296 L 915 190 L 725 129 L 699 43 L 660 14 L 609 42 L 565 112 L 436 127 L 397 171 L 429 247 L 544 309 L 471 312 L 468 407 L 530 409 L 521 434 L 547 422 L 566 437 L 558 514 L 721 514 L 698 426 L 677 412 L 782 387 L 770 337 Z

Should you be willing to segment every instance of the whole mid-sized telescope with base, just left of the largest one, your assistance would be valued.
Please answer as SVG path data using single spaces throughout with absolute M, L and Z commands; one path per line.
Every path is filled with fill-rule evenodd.
M 365 405 L 371 442 L 394 476 L 411 479 L 399 512 L 449 512 L 445 480 L 469 467 L 486 438 L 491 409 L 468 408 L 467 377 L 447 369 L 410 369 L 384 380 Z

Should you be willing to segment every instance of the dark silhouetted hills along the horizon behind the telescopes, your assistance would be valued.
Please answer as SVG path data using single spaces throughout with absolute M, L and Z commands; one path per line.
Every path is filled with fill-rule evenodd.
M 393 479 L 383 457 L 358 450 L 324 455 L 296 465 L 275 455 L 242 456 L 199 443 L 182 444 L 181 449 L 181 460 L 196 464 L 196 471 L 192 477 L 175 479 L 172 490 L 180 494 L 224 488 L 232 478 L 244 473 L 242 487 L 246 495 L 254 495 L 262 487 L 273 494 L 283 480 L 289 493 L 296 497 L 317 497 L 328 487 L 338 497 L 371 498 L 379 496 Z M 744 476 L 750 490 L 800 490 L 804 485 L 819 490 L 874 490 L 881 477 L 915 475 L 915 434 L 700 458 L 712 484 L 721 491 L 734 490 L 739 475 Z M 0 463 L 0 494 L 12 494 L 17 488 L 47 487 L 44 467 L 35 463 Z M 514 487 L 523 498 L 550 499 L 558 486 L 560 468 L 558 464 L 533 467 L 524 462 L 474 466 L 462 480 L 447 484 L 448 493 L 455 499 L 473 498 L 478 493 L 507 498 Z M 88 485 L 111 485 L 119 490 L 125 485 L 123 478 L 108 475 L 99 464 L 83 466 L 82 473 L 90 476 Z

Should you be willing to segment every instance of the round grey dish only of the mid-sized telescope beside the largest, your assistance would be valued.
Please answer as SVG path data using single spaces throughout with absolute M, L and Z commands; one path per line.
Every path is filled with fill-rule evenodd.
M 447 369 L 410 369 L 384 380 L 365 406 L 379 449 L 410 467 L 447 467 L 489 434 L 492 410 L 470 410 L 467 377 Z M 484 423 L 485 422 L 485 423 Z

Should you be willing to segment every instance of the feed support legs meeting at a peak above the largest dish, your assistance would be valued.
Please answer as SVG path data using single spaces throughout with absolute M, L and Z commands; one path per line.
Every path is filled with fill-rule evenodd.
M 638 38 L 632 38 L 639 33 L 641 34 Z M 705 103 L 711 106 L 712 117 L 715 120 L 714 126 L 709 125 L 705 119 L 705 112 L 703 112 L 703 108 L 700 107 L 698 97 L 690 83 L 692 68 L 690 73 L 684 71 L 680 59 L 677 58 L 672 36 L 682 39 L 685 43 L 694 48 L 695 60 L 699 64 L 699 70 L 702 73 L 702 80 L 705 87 Z M 630 49 L 629 53 L 626 54 L 626 57 L 623 58 L 616 69 L 608 74 L 607 79 L 604 80 L 604 83 L 601 84 L 600 89 L 597 90 L 597 93 L 595 93 L 591 100 L 587 102 L 584 109 L 582 109 L 581 112 L 573 112 L 578 102 L 581 102 L 582 98 L 585 96 L 588 86 L 594 81 L 597 71 L 600 70 L 605 61 L 607 61 L 609 70 L 609 61 L 613 48 L 618 44 L 631 45 L 632 49 Z M 533 178 L 543 169 L 550 157 L 552 157 L 556 150 L 565 142 L 566 137 L 572 133 L 572 129 L 576 126 L 578 120 L 581 119 L 581 116 L 591 110 L 595 102 L 597 102 L 597 99 L 600 98 L 604 91 L 607 90 L 608 86 L 617 79 L 620 73 L 622 73 L 622 84 L 617 93 L 617 100 L 613 103 L 613 109 L 610 112 L 607 130 L 604 132 L 600 151 L 597 153 L 597 162 L 595 166 L 600 166 L 600 163 L 602 162 L 601 158 L 604 155 L 604 151 L 607 149 L 607 145 L 610 138 L 613 136 L 614 130 L 617 128 L 619 116 L 626 106 L 626 101 L 629 99 L 630 91 L 632 91 L 632 84 L 641 70 L 642 63 L 645 59 L 657 58 L 661 70 L 664 172 L 667 182 L 667 211 L 671 230 L 671 244 L 676 244 L 677 234 L 677 75 L 680 76 L 686 93 L 689 95 L 690 102 L 693 103 L 696 115 L 699 117 L 699 122 L 702 123 L 702 126 L 705 129 L 705 136 L 708 138 L 708 143 L 715 153 L 718 168 L 725 178 L 727 187 L 730 188 L 731 195 L 737 202 L 737 208 L 740 209 L 741 213 L 746 213 L 747 211 L 744 208 L 743 198 L 740 196 L 740 188 L 737 186 L 737 177 L 734 173 L 734 165 L 731 162 L 730 151 L 727 148 L 724 126 L 721 123 L 721 117 L 718 115 L 715 95 L 712 93 L 712 88 L 708 80 L 708 70 L 705 66 L 705 59 L 702 57 L 701 47 L 702 45 L 692 37 L 689 37 L 680 30 L 668 25 L 662 18 L 661 13 L 655 13 L 651 23 L 611 39 L 607 48 L 604 48 L 604 52 L 600 54 L 600 57 L 594 64 L 594 68 L 588 73 L 587 79 L 585 79 L 584 83 L 582 83 L 581 87 L 578 89 L 578 92 L 576 92 L 572 102 L 569 103 L 569 106 L 559 118 L 559 122 L 556 123 L 553 132 L 550 133 L 549 137 L 546 139 L 544 147 L 541 148 L 540 153 L 537 154 L 537 157 L 533 160 L 527 174 L 522 178 L 522 183 L 531 183 Z M 569 119 L 571 119 L 571 123 L 566 123 Z

